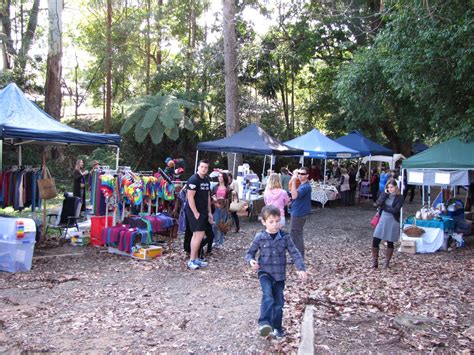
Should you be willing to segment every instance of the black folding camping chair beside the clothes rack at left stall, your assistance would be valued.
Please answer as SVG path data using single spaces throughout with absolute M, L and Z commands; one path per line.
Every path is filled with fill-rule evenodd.
M 48 229 L 58 229 L 60 231 L 60 237 L 66 237 L 68 228 L 76 227 L 79 230 L 77 220 L 81 215 L 82 199 L 80 197 L 72 196 L 70 192 L 64 193 L 63 208 L 61 215 L 48 214 L 48 223 L 46 225 L 46 235 L 48 235 Z M 54 217 L 53 222 L 51 219 Z M 58 221 L 59 217 L 59 221 Z

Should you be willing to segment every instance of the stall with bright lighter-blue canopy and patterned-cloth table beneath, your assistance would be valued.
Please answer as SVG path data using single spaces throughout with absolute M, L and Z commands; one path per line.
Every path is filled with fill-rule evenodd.
M 359 152 L 339 144 L 313 128 L 308 133 L 285 142 L 292 147 L 302 149 L 305 158 L 324 160 L 324 181 L 312 184 L 311 198 L 323 207 L 327 201 L 339 198 L 337 181 L 327 180 L 326 163 L 328 159 L 350 159 L 359 157 Z

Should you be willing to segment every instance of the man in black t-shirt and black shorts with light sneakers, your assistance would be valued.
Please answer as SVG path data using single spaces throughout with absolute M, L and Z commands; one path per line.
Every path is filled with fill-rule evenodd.
M 206 225 L 207 223 L 213 223 L 210 194 L 211 182 L 206 176 L 208 170 L 209 163 L 201 160 L 197 173 L 191 176 L 186 183 L 188 203 L 185 213 L 193 232 L 191 254 L 188 261 L 188 268 L 191 270 L 207 266 L 207 262 L 199 259 L 198 256 Z

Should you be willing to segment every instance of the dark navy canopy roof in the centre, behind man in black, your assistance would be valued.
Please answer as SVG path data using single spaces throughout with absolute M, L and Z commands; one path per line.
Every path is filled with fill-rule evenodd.
M 270 137 L 256 124 L 251 124 L 230 137 L 201 142 L 198 150 L 260 155 L 303 155 L 303 151 Z

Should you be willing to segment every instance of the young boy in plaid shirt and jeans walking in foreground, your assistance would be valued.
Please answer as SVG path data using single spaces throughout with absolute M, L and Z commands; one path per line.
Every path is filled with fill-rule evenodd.
M 265 230 L 257 233 L 250 246 L 245 260 L 258 271 L 258 279 L 262 287 L 262 303 L 258 318 L 261 336 L 273 332 L 277 338 L 283 337 L 283 290 L 286 278 L 286 251 L 295 262 L 298 275 L 302 281 L 306 279 L 303 257 L 296 249 L 290 236 L 280 228 L 280 209 L 273 205 L 265 206 L 261 213 Z M 258 262 L 255 254 L 260 251 Z

